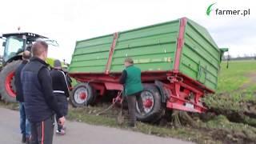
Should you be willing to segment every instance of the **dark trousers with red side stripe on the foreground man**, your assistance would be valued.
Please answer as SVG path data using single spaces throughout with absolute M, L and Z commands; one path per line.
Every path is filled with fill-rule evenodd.
M 52 144 L 54 137 L 54 115 L 42 122 L 30 122 L 30 144 Z

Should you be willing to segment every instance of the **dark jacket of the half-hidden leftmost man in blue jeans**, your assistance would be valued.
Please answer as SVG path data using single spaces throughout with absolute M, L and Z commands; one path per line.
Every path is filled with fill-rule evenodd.
M 15 70 L 14 85 L 16 87 L 16 100 L 18 102 L 24 102 L 23 92 L 22 92 L 21 73 L 22 73 L 22 69 L 26 65 L 26 63 L 27 63 L 27 61 L 23 60 L 21 65 L 18 66 L 18 68 Z

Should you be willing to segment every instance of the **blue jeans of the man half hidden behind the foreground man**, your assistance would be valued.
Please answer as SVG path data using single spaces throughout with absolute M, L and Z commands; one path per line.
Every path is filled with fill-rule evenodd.
M 20 114 L 20 128 L 22 134 L 26 134 L 26 137 L 30 137 L 30 122 L 26 118 L 24 102 L 19 102 L 19 114 Z

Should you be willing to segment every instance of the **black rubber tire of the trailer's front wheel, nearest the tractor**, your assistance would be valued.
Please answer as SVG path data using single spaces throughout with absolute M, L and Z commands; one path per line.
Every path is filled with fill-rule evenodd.
M 76 102 L 74 98 L 76 91 L 79 90 L 80 88 L 85 88 L 87 90 L 87 97 L 86 97 L 87 100 L 82 103 Z M 71 91 L 70 102 L 71 102 L 71 105 L 74 107 L 84 107 L 84 106 L 89 106 L 94 104 L 96 97 L 97 97 L 96 91 L 92 86 L 90 86 L 90 84 L 78 83 L 76 86 L 74 86 L 74 89 Z

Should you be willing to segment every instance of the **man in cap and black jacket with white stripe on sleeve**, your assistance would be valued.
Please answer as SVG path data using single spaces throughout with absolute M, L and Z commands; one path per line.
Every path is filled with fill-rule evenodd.
M 66 74 L 64 71 L 62 71 L 62 63 L 59 60 L 54 61 L 54 68 L 50 71 L 50 76 L 53 81 L 54 96 L 57 98 L 58 106 L 60 107 L 62 114 L 66 116 L 69 105 L 67 98 L 70 96 L 70 91 Z M 56 134 L 66 134 L 62 125 L 58 124 L 58 130 L 56 131 Z

